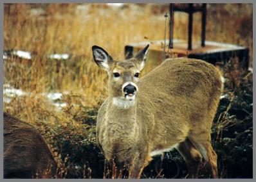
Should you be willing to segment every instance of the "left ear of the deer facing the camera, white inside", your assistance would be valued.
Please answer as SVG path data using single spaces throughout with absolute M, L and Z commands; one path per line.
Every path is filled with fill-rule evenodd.
M 109 65 L 113 62 L 113 58 L 111 58 L 109 53 L 102 49 L 102 47 L 93 45 L 91 48 L 93 49 L 93 59 L 95 60 L 95 63 L 109 71 Z

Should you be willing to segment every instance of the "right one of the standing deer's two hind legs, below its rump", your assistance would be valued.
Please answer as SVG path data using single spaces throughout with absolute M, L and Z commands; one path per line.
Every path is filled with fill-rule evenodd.
M 192 142 L 196 145 L 197 149 L 205 159 L 206 167 L 208 170 L 210 170 L 211 173 L 211 178 L 218 178 L 217 154 L 212 148 L 210 140 L 198 141 L 193 139 Z

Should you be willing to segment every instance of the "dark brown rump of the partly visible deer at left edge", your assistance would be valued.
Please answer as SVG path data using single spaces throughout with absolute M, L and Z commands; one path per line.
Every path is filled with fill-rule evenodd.
M 4 178 L 55 178 L 57 162 L 39 131 L 4 113 Z

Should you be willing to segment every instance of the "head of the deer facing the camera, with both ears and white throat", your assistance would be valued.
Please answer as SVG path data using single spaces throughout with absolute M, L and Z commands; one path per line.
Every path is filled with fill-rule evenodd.
M 140 50 L 133 58 L 116 61 L 97 45 L 93 45 L 93 58 L 97 65 L 109 75 L 109 97 L 113 104 L 122 108 L 134 105 L 138 95 L 140 71 L 145 66 L 149 45 Z

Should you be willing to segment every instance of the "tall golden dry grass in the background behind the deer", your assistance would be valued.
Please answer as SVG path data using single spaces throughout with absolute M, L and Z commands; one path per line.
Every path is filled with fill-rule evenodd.
M 30 92 L 68 90 L 96 106 L 107 95 L 107 75 L 92 61 L 91 46 L 100 45 L 116 59 L 125 44 L 163 39 L 168 6 L 129 4 L 113 9 L 104 4 L 5 4 L 5 50 L 33 54 L 32 62 L 5 62 L 5 83 Z M 42 12 L 35 13 L 35 8 Z M 201 15 L 194 15 L 194 40 L 199 40 Z M 187 38 L 187 15 L 175 13 L 174 38 Z M 250 4 L 208 4 L 207 40 L 252 48 Z M 51 62 L 47 54 L 72 54 L 68 63 Z M 252 58 L 252 51 L 250 51 Z M 21 114 L 21 113 L 20 113 Z M 23 117 L 22 117 L 23 118 Z

